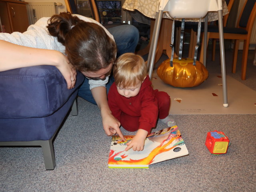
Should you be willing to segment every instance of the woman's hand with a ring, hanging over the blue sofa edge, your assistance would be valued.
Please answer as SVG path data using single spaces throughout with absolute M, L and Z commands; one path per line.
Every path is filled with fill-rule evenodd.
M 58 68 L 58 70 L 60 70 L 61 74 L 65 78 L 67 82 L 67 88 L 72 89 L 75 87 L 76 84 L 76 69 L 70 64 L 66 56 L 64 56 L 63 54 L 61 55 L 62 56 L 60 57 L 62 59 L 62 62 L 60 62 L 60 64 L 58 64 L 56 67 Z

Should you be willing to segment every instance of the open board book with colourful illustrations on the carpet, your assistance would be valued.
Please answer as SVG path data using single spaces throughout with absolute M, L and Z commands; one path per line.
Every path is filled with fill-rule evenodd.
M 148 168 L 150 164 L 170 160 L 188 154 L 178 126 L 148 134 L 144 149 L 125 151 L 127 143 L 134 135 L 124 136 L 126 141 L 118 135 L 112 136 L 108 168 Z

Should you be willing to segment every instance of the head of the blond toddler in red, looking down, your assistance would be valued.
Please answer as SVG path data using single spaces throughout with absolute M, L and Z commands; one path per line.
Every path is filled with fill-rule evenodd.
M 134 53 L 122 54 L 113 69 L 119 94 L 126 97 L 136 96 L 147 74 L 147 66 L 141 56 Z

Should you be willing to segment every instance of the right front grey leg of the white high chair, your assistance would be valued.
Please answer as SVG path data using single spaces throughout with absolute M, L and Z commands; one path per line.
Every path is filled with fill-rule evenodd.
M 218 24 L 220 34 L 220 62 L 222 72 L 222 92 L 223 92 L 223 106 L 228 106 L 227 86 L 226 86 L 226 64 L 225 64 L 225 50 L 224 50 L 224 35 L 223 35 L 223 21 L 222 10 L 218 10 Z

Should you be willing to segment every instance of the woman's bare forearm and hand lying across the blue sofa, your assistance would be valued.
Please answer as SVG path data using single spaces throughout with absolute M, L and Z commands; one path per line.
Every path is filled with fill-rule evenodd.
M 68 58 L 56 50 L 30 48 L 0 40 L 0 58 L 0 71 L 29 66 L 52 65 L 60 70 L 67 82 L 68 89 L 75 85 L 76 70 L 69 64 Z

